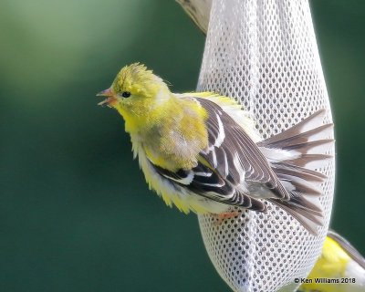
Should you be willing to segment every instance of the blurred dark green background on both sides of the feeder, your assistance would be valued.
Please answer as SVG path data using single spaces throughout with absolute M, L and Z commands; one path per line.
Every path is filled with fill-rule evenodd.
M 365 254 L 365 2 L 311 2 L 336 121 L 331 226 Z M 195 88 L 204 36 L 173 1 L 0 2 L 0 291 L 229 291 L 195 215 L 147 191 L 117 112 L 141 61 Z

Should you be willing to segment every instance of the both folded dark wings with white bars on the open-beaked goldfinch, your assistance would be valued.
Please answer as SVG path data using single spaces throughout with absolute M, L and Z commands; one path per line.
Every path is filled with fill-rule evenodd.
M 208 113 L 208 147 L 191 170 L 170 172 L 152 164 L 156 172 L 203 197 L 255 211 L 266 211 L 257 199 L 288 200 L 287 190 L 245 130 L 213 101 L 196 99 Z M 253 190 L 255 196 L 250 195 Z

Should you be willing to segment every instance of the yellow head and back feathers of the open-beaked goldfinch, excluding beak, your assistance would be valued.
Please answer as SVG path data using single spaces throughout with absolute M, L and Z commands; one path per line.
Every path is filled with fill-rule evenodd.
M 207 142 L 206 112 L 198 103 L 176 98 L 161 78 L 138 64 L 123 68 L 111 89 L 134 96 L 112 105 L 123 116 L 135 149 L 142 148 L 151 162 L 172 172 L 196 164 Z

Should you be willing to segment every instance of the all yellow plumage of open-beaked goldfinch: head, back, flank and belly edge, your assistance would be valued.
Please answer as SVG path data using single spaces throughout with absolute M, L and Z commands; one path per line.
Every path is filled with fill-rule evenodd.
M 121 101 L 118 94 L 123 92 L 129 92 L 134 99 Z M 191 210 L 195 213 L 207 213 L 208 210 L 200 203 L 186 200 L 183 193 L 163 182 L 151 169 L 148 161 L 172 172 L 196 166 L 199 151 L 207 146 L 208 132 L 204 123 L 207 113 L 195 99 L 189 97 L 193 95 L 211 99 L 223 107 L 241 110 L 242 107 L 235 99 L 213 92 L 172 94 L 162 78 L 139 63 L 122 68 L 110 89 L 99 95 L 108 97 L 100 104 L 107 103 L 124 118 L 125 130 L 130 133 L 134 155 L 139 156 L 141 169 L 150 189 L 162 196 L 167 205 L 174 204 L 185 214 Z M 200 161 L 203 162 L 203 159 Z

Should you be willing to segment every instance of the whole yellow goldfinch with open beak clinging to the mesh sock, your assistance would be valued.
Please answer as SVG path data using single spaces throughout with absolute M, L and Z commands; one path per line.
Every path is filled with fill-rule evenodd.
M 213 92 L 172 93 L 144 65 L 121 68 L 99 96 L 118 110 L 150 188 L 184 213 L 266 212 L 265 201 L 292 214 L 312 234 L 322 224 L 318 183 L 333 140 L 319 110 L 259 141 L 234 99 Z

